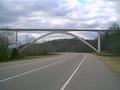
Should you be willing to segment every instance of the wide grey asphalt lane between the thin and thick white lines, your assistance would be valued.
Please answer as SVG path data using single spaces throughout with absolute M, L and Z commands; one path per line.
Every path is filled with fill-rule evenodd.
M 0 90 L 58 90 L 83 58 L 82 54 L 69 54 L 62 63 L 1 82 Z

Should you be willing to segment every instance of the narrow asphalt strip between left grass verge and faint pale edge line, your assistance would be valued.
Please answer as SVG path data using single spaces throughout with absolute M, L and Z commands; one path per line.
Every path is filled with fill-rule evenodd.
M 69 57 L 70 55 L 71 54 L 64 53 L 62 55 L 52 55 L 52 56 L 46 56 L 43 58 L 41 57 L 41 58 L 30 59 L 30 60 L 20 60 L 20 61 L 0 63 L 0 69 L 16 67 L 19 65 L 32 64 L 32 63 L 42 62 L 42 61 L 47 61 L 47 60 L 56 60 L 56 59 L 62 59 L 62 58 L 64 59 L 66 57 Z

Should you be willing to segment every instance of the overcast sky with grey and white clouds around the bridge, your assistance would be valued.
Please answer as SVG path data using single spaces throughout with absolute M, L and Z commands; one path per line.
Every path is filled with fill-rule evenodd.
M 119 19 L 120 0 L 0 0 L 1 27 L 106 29 Z

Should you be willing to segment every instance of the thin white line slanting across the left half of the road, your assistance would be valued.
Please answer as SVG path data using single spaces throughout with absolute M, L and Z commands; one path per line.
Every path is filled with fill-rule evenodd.
M 43 66 L 43 67 L 40 67 L 40 68 L 36 68 L 36 69 L 30 70 L 30 71 L 27 71 L 27 72 L 24 72 L 24 73 L 21 73 L 21 74 L 18 74 L 18 75 L 15 75 L 15 76 L 12 76 L 12 77 L 3 79 L 3 80 L 0 80 L 0 83 L 1 83 L 1 82 L 4 82 L 4 81 L 7 81 L 7 80 L 10 80 L 10 79 L 14 79 L 14 78 L 23 76 L 23 75 L 25 75 L 25 74 L 32 73 L 32 72 L 37 71 L 37 70 L 40 70 L 40 69 L 44 69 L 44 68 L 50 67 L 50 66 L 52 66 L 52 65 L 55 65 L 55 64 L 58 64 L 58 63 L 61 63 L 61 62 L 68 61 L 68 60 L 70 60 L 70 58 L 67 59 L 67 60 L 58 61 L 58 62 L 56 62 L 56 63 L 52 63 L 52 64 L 49 64 L 49 65 L 46 65 L 46 66 Z

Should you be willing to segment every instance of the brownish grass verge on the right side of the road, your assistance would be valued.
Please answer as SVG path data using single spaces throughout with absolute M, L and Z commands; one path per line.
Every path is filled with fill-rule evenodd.
M 97 57 L 120 75 L 120 55 L 102 53 L 97 55 Z

